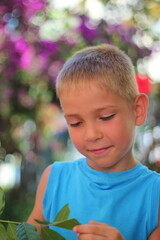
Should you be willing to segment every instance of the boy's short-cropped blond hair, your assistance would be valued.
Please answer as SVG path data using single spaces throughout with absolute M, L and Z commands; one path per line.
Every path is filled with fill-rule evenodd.
M 110 89 L 127 100 L 138 95 L 135 72 L 130 58 L 110 44 L 101 44 L 82 49 L 69 58 L 56 80 L 56 93 L 96 83 Z

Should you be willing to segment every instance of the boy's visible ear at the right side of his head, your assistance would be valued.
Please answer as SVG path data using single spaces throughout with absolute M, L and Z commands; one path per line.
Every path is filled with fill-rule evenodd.
M 146 94 L 140 93 L 134 100 L 136 126 L 141 126 L 145 122 L 147 116 L 147 109 L 148 97 Z

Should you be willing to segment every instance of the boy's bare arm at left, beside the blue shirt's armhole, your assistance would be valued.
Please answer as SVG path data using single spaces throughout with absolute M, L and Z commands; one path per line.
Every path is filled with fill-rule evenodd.
M 32 212 L 27 220 L 27 222 L 30 224 L 37 224 L 34 219 L 38 219 L 41 221 L 44 220 L 44 216 L 42 213 L 42 210 L 43 210 L 42 201 L 43 201 L 44 192 L 46 190 L 46 185 L 48 182 L 48 176 L 49 176 L 51 167 L 52 166 L 50 165 L 45 169 L 45 171 L 43 172 L 42 177 L 40 179 L 40 182 L 39 182 L 39 185 L 37 188 L 35 204 L 34 204 Z M 37 227 L 37 230 L 40 231 L 40 227 Z

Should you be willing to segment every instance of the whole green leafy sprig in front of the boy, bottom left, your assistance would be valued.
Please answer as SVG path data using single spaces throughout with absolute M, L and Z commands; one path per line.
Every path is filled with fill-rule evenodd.
M 4 192 L 0 188 L 0 214 L 5 206 Z M 65 240 L 56 231 L 49 229 L 50 226 L 57 226 L 72 230 L 75 225 L 80 223 L 75 219 L 69 219 L 70 209 L 66 204 L 57 214 L 53 222 L 40 221 L 35 219 L 37 225 L 27 222 L 13 222 L 0 220 L 0 240 Z M 2 223 L 7 223 L 7 228 Z M 41 233 L 37 232 L 36 226 L 41 227 Z

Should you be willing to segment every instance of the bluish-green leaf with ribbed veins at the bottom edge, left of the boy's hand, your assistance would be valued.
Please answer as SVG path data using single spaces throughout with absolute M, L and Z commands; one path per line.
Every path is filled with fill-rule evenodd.
M 41 240 L 36 228 L 26 222 L 18 225 L 16 235 L 18 240 Z

